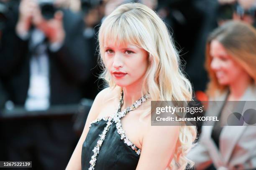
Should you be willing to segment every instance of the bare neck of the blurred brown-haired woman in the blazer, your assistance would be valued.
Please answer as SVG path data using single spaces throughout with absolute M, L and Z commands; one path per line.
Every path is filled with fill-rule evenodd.
M 251 77 L 239 77 L 239 80 L 236 80 L 229 85 L 230 94 L 228 100 L 240 100 L 249 85 L 251 85 Z

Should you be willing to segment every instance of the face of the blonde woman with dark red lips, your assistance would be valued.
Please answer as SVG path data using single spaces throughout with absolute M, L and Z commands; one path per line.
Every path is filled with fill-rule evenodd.
M 148 68 L 148 53 L 136 45 L 104 44 L 105 65 L 113 81 L 120 87 L 140 85 Z

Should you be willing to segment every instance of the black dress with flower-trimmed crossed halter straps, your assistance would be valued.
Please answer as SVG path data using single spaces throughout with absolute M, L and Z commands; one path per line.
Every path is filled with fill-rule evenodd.
M 120 112 L 121 93 L 117 113 L 91 122 L 82 146 L 82 170 L 135 170 L 140 158 L 138 149 L 125 135 L 120 118 L 146 101 L 143 96 L 131 107 Z

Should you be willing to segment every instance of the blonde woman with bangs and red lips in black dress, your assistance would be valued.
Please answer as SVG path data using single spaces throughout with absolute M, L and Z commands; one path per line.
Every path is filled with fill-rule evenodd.
M 145 5 L 120 5 L 102 23 L 99 46 L 109 87 L 95 98 L 67 170 L 191 165 L 186 154 L 195 140 L 194 126 L 151 126 L 151 100 L 192 96 L 164 22 Z

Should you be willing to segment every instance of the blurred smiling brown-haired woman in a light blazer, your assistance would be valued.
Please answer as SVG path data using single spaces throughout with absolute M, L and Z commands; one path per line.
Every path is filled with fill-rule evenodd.
M 198 145 L 188 158 L 195 162 L 196 170 L 255 170 L 255 126 L 221 126 L 227 125 L 225 110 L 236 109 L 228 107 L 231 102 L 226 101 L 256 101 L 255 28 L 241 21 L 229 21 L 214 30 L 207 40 L 206 68 L 210 100 L 224 102 L 210 106 L 205 114 L 219 116 L 220 123 L 202 127 Z M 244 108 L 251 108 L 246 105 L 250 102 Z

